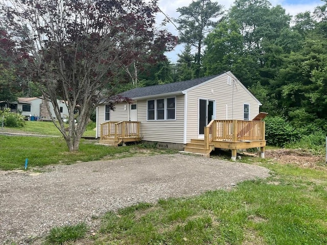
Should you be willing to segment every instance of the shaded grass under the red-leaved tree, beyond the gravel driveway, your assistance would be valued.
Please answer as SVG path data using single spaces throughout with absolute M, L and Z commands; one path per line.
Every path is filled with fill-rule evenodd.
M 132 146 L 113 148 L 82 139 L 79 151 L 69 152 L 63 138 L 0 135 L 0 148 L 0 169 L 12 170 L 23 169 L 26 158 L 29 167 L 72 164 L 109 159 L 116 154 L 129 153 Z

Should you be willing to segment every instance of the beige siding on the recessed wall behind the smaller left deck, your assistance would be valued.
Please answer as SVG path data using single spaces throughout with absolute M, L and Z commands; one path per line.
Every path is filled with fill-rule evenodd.
M 126 105 L 126 110 L 124 108 Z M 119 103 L 115 105 L 115 110 L 110 111 L 110 121 L 127 121 L 128 119 L 128 105 L 126 103 Z M 105 122 L 105 105 L 98 106 L 98 135 L 100 137 L 100 125 Z

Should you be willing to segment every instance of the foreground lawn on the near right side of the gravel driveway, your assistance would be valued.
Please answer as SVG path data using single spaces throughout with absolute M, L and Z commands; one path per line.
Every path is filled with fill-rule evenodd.
M 95 244 L 327 244 L 326 171 L 260 164 L 271 177 L 108 212 Z

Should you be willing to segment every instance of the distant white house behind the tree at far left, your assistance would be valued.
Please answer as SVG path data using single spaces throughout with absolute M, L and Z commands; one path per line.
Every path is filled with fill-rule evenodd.
M 64 115 L 68 115 L 67 105 L 64 101 L 57 100 L 57 102 L 63 118 Z M 18 97 L 16 102 L 8 103 L 8 106 L 13 112 L 21 113 L 28 120 L 50 120 L 51 117 L 45 103 L 49 102 L 39 97 Z M 51 114 L 56 117 L 53 105 L 49 103 L 49 106 Z

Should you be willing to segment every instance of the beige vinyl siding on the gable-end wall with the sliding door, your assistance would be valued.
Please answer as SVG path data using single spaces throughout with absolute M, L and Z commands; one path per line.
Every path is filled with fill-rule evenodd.
M 215 80 L 202 84 L 188 91 L 187 105 L 187 137 L 189 142 L 191 138 L 198 137 L 198 104 L 199 99 L 216 101 L 216 119 L 243 120 L 244 104 L 250 105 L 250 119 L 259 113 L 259 104 L 251 94 L 240 85 L 236 78 L 231 77 L 231 84 L 227 84 L 228 75 L 224 74 Z

